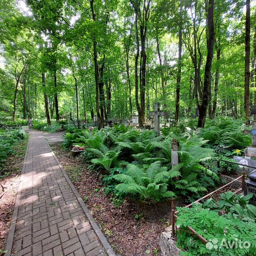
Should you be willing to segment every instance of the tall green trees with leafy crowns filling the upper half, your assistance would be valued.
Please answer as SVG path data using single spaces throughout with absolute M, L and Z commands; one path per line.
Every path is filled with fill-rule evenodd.
M 2 0 L 0 118 L 249 118 L 250 0 Z

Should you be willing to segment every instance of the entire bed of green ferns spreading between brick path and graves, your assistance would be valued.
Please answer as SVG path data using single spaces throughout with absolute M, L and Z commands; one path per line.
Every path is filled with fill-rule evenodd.
M 163 128 L 160 136 L 154 130 L 125 125 L 92 132 L 73 128 L 65 133 L 62 146 L 65 150 L 84 147 L 83 159 L 103 174 L 106 192 L 119 199 L 128 196 L 150 202 L 183 197 L 189 202 L 221 183 L 219 173 L 228 172 L 229 166 L 222 164 L 219 169 L 216 160 L 242 152 L 251 139 L 247 130 L 242 120 L 231 118 L 207 120 L 206 127 L 199 129 L 194 128 L 194 120 L 184 119 Z M 172 167 L 174 139 L 180 145 L 179 163 Z M 218 153 L 219 146 L 225 154 Z M 234 169 L 230 167 L 230 172 Z

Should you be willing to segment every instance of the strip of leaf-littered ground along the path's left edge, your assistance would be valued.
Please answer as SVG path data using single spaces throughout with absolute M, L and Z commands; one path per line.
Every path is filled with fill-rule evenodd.
M 0 183 L 5 187 L 6 191 L 0 198 L 0 255 L 4 250 L 10 227 L 26 150 L 27 140 L 15 146 L 16 155 L 8 157 L 6 167 L 2 172 L 4 175 L 0 176 Z M 2 190 L 0 189 L 1 193 Z

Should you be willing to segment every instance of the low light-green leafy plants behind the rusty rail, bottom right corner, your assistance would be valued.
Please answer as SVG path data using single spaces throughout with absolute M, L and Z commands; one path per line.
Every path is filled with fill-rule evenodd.
M 256 250 L 256 224 L 247 223 L 241 219 L 228 219 L 219 216 L 215 211 L 203 209 L 200 204 L 192 208 L 178 207 L 178 219 L 176 221 L 180 228 L 177 232 L 177 246 L 182 250 L 183 256 L 255 256 Z M 192 235 L 187 226 L 192 227 L 197 234 L 208 241 L 214 241 L 217 248 L 208 247 L 199 238 Z M 251 246 L 227 248 L 226 243 L 238 244 L 238 239 L 242 242 L 249 242 Z M 213 240 L 214 239 L 214 240 Z M 208 249 L 210 248 L 210 249 Z

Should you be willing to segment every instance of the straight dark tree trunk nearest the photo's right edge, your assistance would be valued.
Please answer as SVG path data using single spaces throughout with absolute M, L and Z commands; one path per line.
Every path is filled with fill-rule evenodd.
M 246 36 L 245 36 L 245 95 L 244 110 L 247 125 L 249 124 L 250 100 L 250 0 L 246 0 Z

